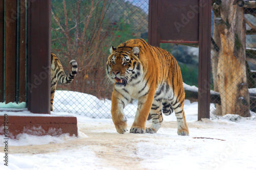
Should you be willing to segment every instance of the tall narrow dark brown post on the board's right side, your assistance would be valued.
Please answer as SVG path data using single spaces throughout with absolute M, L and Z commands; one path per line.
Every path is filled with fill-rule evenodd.
M 199 4 L 201 6 L 199 7 L 198 120 L 201 120 L 201 118 L 210 118 L 211 3 L 200 0 Z

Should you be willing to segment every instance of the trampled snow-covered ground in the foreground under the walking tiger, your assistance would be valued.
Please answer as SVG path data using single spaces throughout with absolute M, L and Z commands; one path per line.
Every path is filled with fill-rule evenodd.
M 8 139 L 8 166 L 1 136 L 0 169 L 256 169 L 255 119 L 197 121 L 198 104 L 189 101 L 184 110 L 190 136 L 177 135 L 175 114 L 164 116 L 157 134 L 118 134 L 111 118 L 72 114 L 78 137 L 20 134 Z M 132 123 L 128 118 L 128 128 Z

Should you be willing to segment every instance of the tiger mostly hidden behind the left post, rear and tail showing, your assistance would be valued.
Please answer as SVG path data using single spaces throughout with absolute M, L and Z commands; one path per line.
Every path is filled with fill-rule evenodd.
M 66 76 L 59 58 L 51 52 L 51 111 L 53 111 L 53 98 L 58 80 L 62 84 L 70 84 L 77 74 L 77 62 L 71 60 L 72 71 Z

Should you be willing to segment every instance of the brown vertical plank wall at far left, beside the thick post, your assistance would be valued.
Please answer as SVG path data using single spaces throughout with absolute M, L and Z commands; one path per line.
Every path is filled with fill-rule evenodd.
M 6 104 L 26 102 L 25 3 L 26 0 L 0 3 L 0 102 Z

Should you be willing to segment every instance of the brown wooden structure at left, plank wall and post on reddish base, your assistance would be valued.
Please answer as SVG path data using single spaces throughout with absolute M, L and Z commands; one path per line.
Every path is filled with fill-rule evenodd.
M 0 48 L 0 102 L 26 102 L 31 113 L 41 114 L 23 116 L 22 112 L 17 112 L 17 115 L 8 115 L 8 111 L 0 108 L 0 127 L 7 115 L 10 138 L 27 133 L 25 129 L 38 135 L 33 133 L 38 128 L 44 132 L 40 135 L 69 133 L 77 136 L 76 117 L 49 115 L 51 0 L 2 1 Z M 52 133 L 54 129 L 57 134 Z M 2 128 L 0 134 L 4 134 Z

